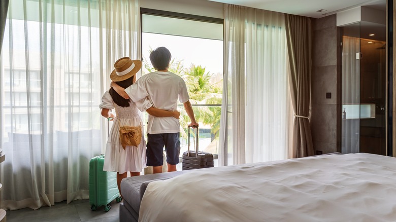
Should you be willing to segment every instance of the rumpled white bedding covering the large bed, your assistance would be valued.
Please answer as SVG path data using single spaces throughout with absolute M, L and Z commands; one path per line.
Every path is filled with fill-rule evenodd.
M 396 158 L 322 155 L 149 183 L 139 221 L 396 221 Z

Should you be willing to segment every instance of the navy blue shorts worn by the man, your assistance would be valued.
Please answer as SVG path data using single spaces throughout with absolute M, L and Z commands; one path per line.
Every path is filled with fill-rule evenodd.
M 180 133 L 147 134 L 147 166 L 162 166 L 163 146 L 167 153 L 167 162 L 171 165 L 179 163 Z

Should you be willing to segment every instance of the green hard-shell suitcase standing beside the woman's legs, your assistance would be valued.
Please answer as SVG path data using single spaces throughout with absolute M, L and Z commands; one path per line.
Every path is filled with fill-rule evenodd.
M 91 210 L 97 207 L 105 206 L 105 211 L 111 209 L 109 203 L 116 199 L 120 202 L 117 187 L 116 172 L 103 171 L 105 155 L 101 154 L 89 161 L 89 204 Z

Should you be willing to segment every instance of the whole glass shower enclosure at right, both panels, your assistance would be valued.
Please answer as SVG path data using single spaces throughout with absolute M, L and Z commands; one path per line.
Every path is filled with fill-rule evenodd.
M 343 154 L 385 155 L 386 42 L 369 39 L 368 28 L 365 22 L 342 28 Z

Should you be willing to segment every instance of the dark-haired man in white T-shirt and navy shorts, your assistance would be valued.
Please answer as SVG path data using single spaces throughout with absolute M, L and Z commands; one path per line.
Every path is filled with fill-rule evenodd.
M 198 127 L 194 112 L 189 101 L 185 82 L 181 77 L 168 70 L 171 62 L 171 52 L 165 47 L 158 47 L 150 53 L 150 61 L 154 72 L 142 76 L 135 84 L 126 89 L 115 82 L 111 87 L 125 99 L 134 102 L 148 97 L 153 107 L 176 110 L 177 100 L 183 103 L 190 127 Z M 147 165 L 153 166 L 153 173 L 162 172 L 162 150 L 167 153 L 168 172 L 176 171 L 180 155 L 180 123 L 173 117 L 154 117 L 149 115 L 147 124 Z

